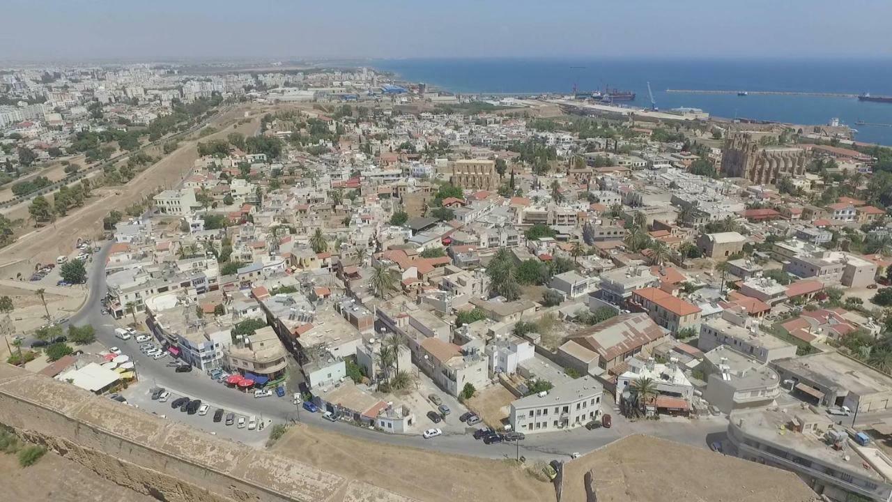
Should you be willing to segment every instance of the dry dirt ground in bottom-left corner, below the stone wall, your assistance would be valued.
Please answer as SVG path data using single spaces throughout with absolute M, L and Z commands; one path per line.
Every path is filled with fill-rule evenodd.
M 152 502 L 136 491 L 105 480 L 80 464 L 47 453 L 21 468 L 16 456 L 0 454 L 0 493 L 9 501 Z

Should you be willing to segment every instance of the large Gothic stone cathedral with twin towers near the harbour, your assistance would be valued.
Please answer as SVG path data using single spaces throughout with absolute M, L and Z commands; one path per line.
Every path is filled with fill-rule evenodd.
M 795 146 L 762 146 L 750 132 L 732 134 L 722 149 L 722 170 L 730 178 L 767 185 L 781 176 L 802 176 L 808 153 Z

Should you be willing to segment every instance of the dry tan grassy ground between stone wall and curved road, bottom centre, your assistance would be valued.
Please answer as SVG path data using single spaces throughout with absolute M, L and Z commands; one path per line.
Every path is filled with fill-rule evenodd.
M 349 480 L 424 501 L 515 502 L 555 499 L 554 487 L 500 460 L 452 456 L 351 439 L 297 424 L 273 450 Z

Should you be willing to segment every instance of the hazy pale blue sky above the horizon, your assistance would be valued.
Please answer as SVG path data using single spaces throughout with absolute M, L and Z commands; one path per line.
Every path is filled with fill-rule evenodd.
M 0 0 L 0 60 L 892 57 L 889 0 Z

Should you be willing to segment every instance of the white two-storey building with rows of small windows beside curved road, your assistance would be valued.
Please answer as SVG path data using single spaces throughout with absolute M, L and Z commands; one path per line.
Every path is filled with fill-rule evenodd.
M 601 416 L 604 388 L 589 376 L 556 386 L 548 392 L 521 397 L 511 403 L 508 421 L 515 431 L 563 431 L 582 427 Z

